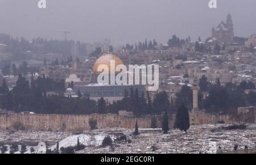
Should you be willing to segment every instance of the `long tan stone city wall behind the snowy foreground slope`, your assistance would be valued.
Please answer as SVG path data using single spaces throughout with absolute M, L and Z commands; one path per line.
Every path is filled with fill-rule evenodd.
M 54 114 L 20 114 L 12 113 L 0 115 L 0 129 L 13 127 L 15 122 L 24 125 L 26 129 L 35 130 L 69 130 L 82 131 L 90 129 L 88 121 L 90 118 L 97 120 L 98 128 L 127 128 L 132 129 L 138 121 L 139 128 L 150 128 L 151 117 L 124 117 L 116 114 L 92 114 L 92 115 L 54 115 Z M 158 126 L 161 127 L 161 117 L 158 116 Z M 229 115 L 210 114 L 195 112 L 191 114 L 191 124 L 216 124 L 224 121 L 226 124 L 251 123 L 255 122 L 256 115 L 252 117 L 247 113 L 240 115 L 239 119 L 234 119 Z M 175 116 L 170 116 L 169 125 L 173 126 Z

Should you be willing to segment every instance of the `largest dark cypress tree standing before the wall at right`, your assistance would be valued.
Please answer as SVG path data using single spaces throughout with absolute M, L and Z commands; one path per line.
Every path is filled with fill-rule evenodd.
M 176 114 L 174 128 L 179 128 L 181 131 L 184 131 L 187 134 L 187 130 L 189 129 L 189 127 L 190 124 L 188 109 L 185 107 L 184 104 L 182 104 Z

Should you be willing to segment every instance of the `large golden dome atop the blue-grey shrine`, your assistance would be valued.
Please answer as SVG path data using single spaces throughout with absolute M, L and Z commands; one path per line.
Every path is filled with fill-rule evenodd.
M 109 74 L 110 74 L 110 60 L 115 61 L 115 67 L 117 67 L 118 65 L 123 65 L 123 62 L 122 60 L 120 60 L 120 58 L 118 58 L 114 54 L 106 53 L 96 60 L 95 64 L 93 65 L 93 73 L 101 74 L 102 71 L 97 71 L 97 69 L 98 69 L 98 66 L 100 66 L 101 64 L 104 64 L 109 67 Z M 117 74 L 117 72 L 115 72 L 115 74 Z

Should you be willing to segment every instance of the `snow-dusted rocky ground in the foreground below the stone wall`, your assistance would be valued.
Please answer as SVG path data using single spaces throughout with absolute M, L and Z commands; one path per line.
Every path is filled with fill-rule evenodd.
M 26 144 L 27 153 L 30 148 L 37 150 L 38 142 L 47 142 L 49 149 L 54 150 L 59 141 L 59 148 L 76 146 L 77 138 L 86 147 L 77 153 L 214 153 L 218 146 L 224 151 L 234 149 L 255 149 L 256 129 L 251 125 L 245 130 L 218 130 L 218 125 L 191 126 L 188 134 L 177 129 L 171 129 L 168 134 L 163 134 L 159 129 L 140 129 L 139 136 L 127 136 L 131 141 L 115 141 L 113 147 L 101 147 L 102 140 L 106 136 L 112 137 L 113 141 L 124 133 L 133 132 L 133 129 L 105 128 L 97 130 L 87 130 L 79 134 L 71 132 L 43 132 L 24 130 L 18 132 L 7 132 L 0 130 L 0 146 L 11 145 L 13 143 Z M 127 134 L 129 134 L 127 133 Z M 7 152 L 8 153 L 8 152 Z M 16 152 L 16 153 L 19 153 Z

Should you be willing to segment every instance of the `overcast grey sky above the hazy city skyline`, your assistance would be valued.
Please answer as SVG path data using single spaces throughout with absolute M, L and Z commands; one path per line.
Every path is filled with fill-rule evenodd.
M 30 40 L 64 39 L 57 31 L 71 31 L 69 39 L 88 43 L 166 43 L 173 34 L 205 39 L 229 12 L 236 36 L 256 33 L 255 0 L 217 0 L 217 9 L 209 9 L 210 0 L 46 0 L 47 9 L 38 1 L 0 0 L 0 33 Z

